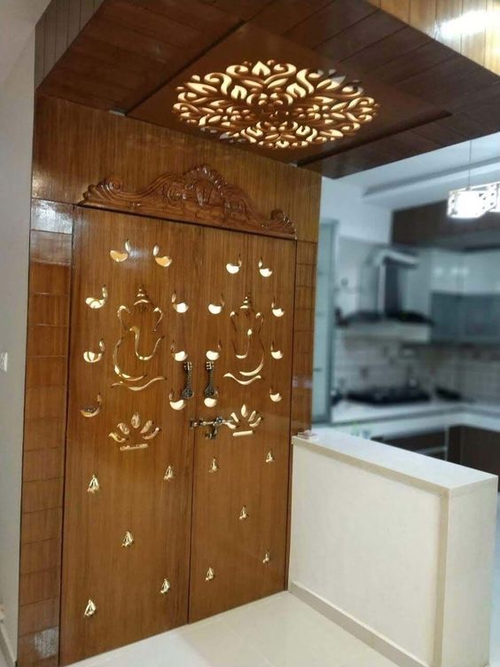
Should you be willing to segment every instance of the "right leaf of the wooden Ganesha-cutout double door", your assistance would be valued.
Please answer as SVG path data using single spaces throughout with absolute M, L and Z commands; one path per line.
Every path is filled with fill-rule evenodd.
M 221 231 L 205 239 L 200 296 L 211 312 L 200 339 L 217 358 L 215 396 L 198 393 L 197 417 L 230 423 L 214 439 L 196 428 L 191 621 L 285 582 L 295 244 Z

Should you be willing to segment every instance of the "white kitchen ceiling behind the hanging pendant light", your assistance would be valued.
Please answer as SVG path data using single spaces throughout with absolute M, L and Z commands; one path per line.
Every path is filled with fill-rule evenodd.
M 470 142 L 339 178 L 359 189 L 367 204 L 396 210 L 444 200 L 450 189 L 465 187 Z M 471 184 L 500 181 L 500 132 L 472 142 Z

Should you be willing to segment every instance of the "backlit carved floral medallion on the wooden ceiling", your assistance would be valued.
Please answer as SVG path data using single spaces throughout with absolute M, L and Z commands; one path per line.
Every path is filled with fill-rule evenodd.
M 298 69 L 276 60 L 192 75 L 177 89 L 181 121 L 229 142 L 304 148 L 351 137 L 379 104 L 335 70 Z

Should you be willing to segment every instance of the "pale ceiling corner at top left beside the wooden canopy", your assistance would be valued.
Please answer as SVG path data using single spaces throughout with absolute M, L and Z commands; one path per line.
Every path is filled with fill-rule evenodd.
M 0 86 L 50 0 L 0 0 Z

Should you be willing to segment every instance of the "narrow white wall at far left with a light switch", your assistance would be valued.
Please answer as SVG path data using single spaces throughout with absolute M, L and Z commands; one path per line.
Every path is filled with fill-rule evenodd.
M 0 604 L 17 643 L 35 35 L 0 87 Z M 1 629 L 1 627 L 0 627 Z

